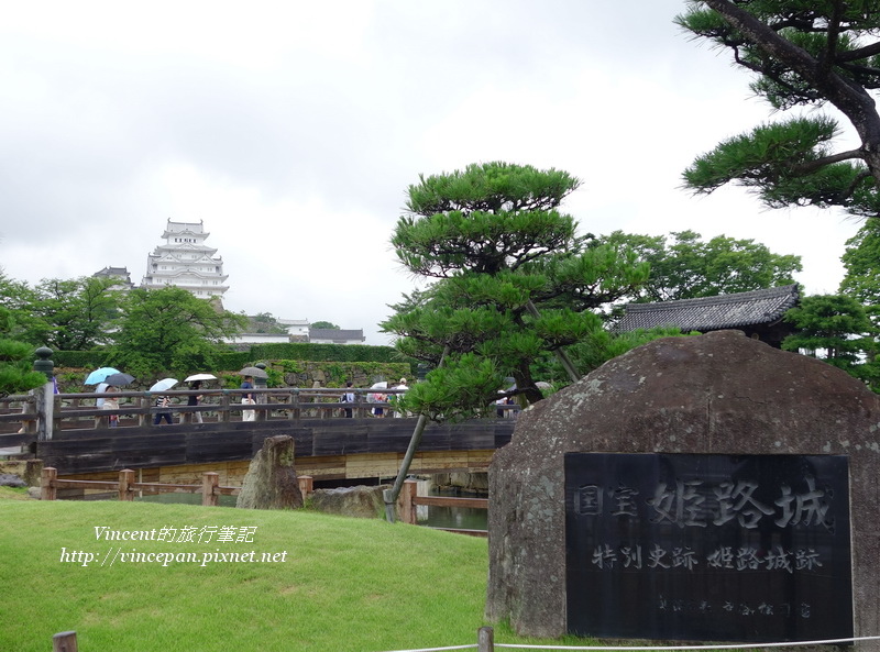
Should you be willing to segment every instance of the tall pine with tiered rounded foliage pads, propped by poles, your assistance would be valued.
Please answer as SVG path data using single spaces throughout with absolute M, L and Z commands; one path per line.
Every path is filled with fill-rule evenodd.
M 529 402 L 540 400 L 534 363 L 601 329 L 593 310 L 647 279 L 647 264 L 585 246 L 560 212 L 579 185 L 564 172 L 488 163 L 409 187 L 392 244 L 433 283 L 392 306 L 382 328 L 402 353 L 439 368 L 407 393 L 407 409 L 472 416 L 508 376 Z

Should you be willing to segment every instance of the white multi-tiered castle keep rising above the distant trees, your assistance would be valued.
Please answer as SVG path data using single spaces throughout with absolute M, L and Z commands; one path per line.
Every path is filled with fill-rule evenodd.
M 158 289 L 168 285 L 189 290 L 195 296 L 222 299 L 229 289 L 228 275 L 223 274 L 223 258 L 216 248 L 205 245 L 210 233 L 201 221 L 172 222 L 168 219 L 158 245 L 146 256 L 146 275 L 141 287 Z

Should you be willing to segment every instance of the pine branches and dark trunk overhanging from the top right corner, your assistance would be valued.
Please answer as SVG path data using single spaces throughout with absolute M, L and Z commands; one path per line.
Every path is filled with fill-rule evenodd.
M 690 0 L 675 22 L 729 48 L 755 75 L 751 90 L 778 111 L 832 104 L 859 139 L 835 151 L 837 121 L 818 109 L 757 126 L 718 144 L 684 172 L 685 186 L 712 192 L 736 181 L 769 207 L 844 207 L 854 214 L 880 209 L 880 2 L 816 0 Z

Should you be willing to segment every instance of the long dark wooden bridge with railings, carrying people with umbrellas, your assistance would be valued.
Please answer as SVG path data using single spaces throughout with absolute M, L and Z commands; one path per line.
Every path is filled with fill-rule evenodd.
M 163 396 L 174 401 L 168 408 L 155 407 L 155 394 L 120 391 L 120 407 L 113 410 L 95 406 L 102 397 L 98 394 L 53 395 L 47 389 L 7 397 L 0 401 L 0 449 L 22 451 L 16 456 L 41 460 L 70 478 L 112 478 L 131 468 L 138 482 L 198 482 L 210 471 L 226 485 L 241 483 L 265 438 L 286 434 L 296 443 L 298 474 L 316 483 L 375 482 L 397 474 L 416 423 L 395 415 L 393 399 L 371 402 L 375 390 L 356 390 L 355 402 L 340 402 L 339 389 L 249 391 L 256 404 L 242 405 L 241 390 L 166 391 Z M 202 396 L 201 404 L 186 405 L 190 395 Z M 382 417 L 373 415 L 377 408 Z M 499 409 L 515 416 L 513 407 Z M 174 422 L 154 424 L 158 412 L 172 412 Z M 204 422 L 197 422 L 197 413 Z M 109 427 L 111 415 L 119 417 L 119 427 Z M 486 471 L 494 451 L 510 440 L 514 424 L 494 410 L 485 419 L 431 423 L 410 471 Z M 15 432 L 18 427 L 23 432 Z

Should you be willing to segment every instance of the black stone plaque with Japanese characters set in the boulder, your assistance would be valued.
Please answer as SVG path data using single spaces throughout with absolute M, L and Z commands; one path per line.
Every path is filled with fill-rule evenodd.
M 853 636 L 849 465 L 839 455 L 565 455 L 576 636 Z

